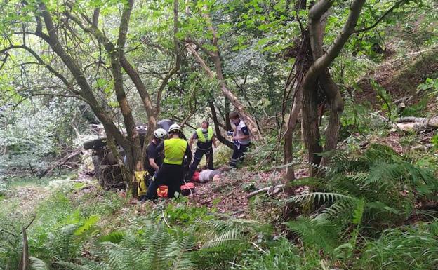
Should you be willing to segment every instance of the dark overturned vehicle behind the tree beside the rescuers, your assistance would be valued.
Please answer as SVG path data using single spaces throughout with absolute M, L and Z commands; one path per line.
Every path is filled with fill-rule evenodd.
M 168 132 L 169 127 L 175 123 L 174 121 L 164 119 L 157 122 L 155 128 L 163 128 Z M 146 125 L 135 126 L 138 135 L 140 136 L 140 145 L 143 147 L 145 135 L 147 133 Z M 98 179 L 100 186 L 105 189 L 122 188 L 126 186 L 121 173 L 121 168 L 117 159 L 112 154 L 110 147 L 107 146 L 107 137 L 99 137 L 95 140 L 84 142 L 84 149 L 92 150 L 91 158 L 93 160 L 95 177 Z M 125 156 L 124 149 L 117 146 L 121 157 Z

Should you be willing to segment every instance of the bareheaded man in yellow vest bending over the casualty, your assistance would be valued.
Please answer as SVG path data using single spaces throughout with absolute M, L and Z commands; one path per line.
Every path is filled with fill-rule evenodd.
M 201 162 L 202 157 L 206 156 L 206 161 L 208 164 L 208 169 L 214 170 L 213 168 L 213 145 L 217 148 L 216 138 L 213 135 L 213 128 L 209 125 L 208 121 L 201 123 L 201 128 L 198 128 L 190 137 L 189 147 L 192 149 L 193 141 L 198 140 L 197 149 L 194 152 L 194 158 L 192 165 L 190 165 L 189 174 L 187 175 L 187 180 L 191 180 L 194 171 L 197 169 L 199 162 Z

